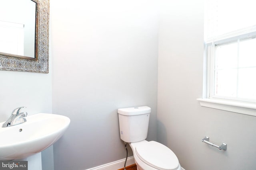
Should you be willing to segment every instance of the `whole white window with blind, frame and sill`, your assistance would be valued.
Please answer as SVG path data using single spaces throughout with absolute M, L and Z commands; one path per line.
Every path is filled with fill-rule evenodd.
M 256 10 L 251 0 L 206 0 L 207 81 L 201 106 L 256 116 Z

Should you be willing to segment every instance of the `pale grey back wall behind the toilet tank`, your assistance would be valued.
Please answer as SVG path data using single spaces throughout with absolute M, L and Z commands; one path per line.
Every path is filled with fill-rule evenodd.
M 125 158 L 118 108 L 152 107 L 148 140 L 156 140 L 153 2 L 54 0 L 50 10 L 53 113 L 71 119 L 54 144 L 55 170 L 85 170 Z

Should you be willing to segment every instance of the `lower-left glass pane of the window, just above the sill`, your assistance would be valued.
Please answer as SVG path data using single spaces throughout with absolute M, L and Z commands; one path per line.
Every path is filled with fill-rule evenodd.
M 214 95 L 236 97 L 237 70 L 217 70 L 215 74 Z

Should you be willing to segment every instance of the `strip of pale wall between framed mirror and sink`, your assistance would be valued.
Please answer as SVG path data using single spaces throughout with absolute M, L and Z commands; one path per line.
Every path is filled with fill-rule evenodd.
M 0 121 L 16 107 L 26 106 L 28 115 L 52 112 L 51 73 L 0 70 Z

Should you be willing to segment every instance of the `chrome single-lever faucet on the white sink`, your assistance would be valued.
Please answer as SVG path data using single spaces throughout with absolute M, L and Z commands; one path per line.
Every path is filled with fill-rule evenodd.
M 9 126 L 14 126 L 18 125 L 20 123 L 26 122 L 26 119 L 24 117 L 27 117 L 28 113 L 27 112 L 22 112 L 20 113 L 21 108 L 26 108 L 26 107 L 18 107 L 12 111 L 12 115 L 9 117 L 9 119 L 2 125 L 2 127 L 9 127 Z

